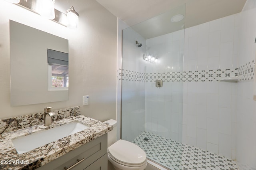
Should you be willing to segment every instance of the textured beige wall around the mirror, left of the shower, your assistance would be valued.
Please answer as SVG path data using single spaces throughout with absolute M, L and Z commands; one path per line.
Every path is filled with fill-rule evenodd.
M 94 0 L 56 1 L 55 8 L 65 12 L 70 6 L 80 14 L 79 28 L 69 30 L 17 5 L 0 1 L 0 119 L 43 111 L 44 107 L 63 109 L 88 106 L 81 114 L 105 121 L 116 119 L 116 40 L 117 18 Z M 10 107 L 9 19 L 69 40 L 68 101 Z

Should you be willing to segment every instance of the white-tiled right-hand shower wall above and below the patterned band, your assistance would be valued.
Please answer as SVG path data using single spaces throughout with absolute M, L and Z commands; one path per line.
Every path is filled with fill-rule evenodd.
M 241 12 L 240 54 L 238 65 L 256 56 L 256 2 L 247 0 Z M 240 170 L 256 170 L 256 83 L 254 80 L 237 83 L 236 161 Z

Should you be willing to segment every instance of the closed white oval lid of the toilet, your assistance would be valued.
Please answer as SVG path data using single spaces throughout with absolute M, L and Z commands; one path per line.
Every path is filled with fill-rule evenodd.
M 108 154 L 124 164 L 139 165 L 146 161 L 146 153 L 132 142 L 118 140 L 108 147 Z

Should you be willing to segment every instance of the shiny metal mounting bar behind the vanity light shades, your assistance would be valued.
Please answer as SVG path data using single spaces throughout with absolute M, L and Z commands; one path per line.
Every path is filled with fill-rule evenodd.
M 36 11 L 36 1 L 37 0 L 20 0 L 20 2 L 16 5 L 21 6 L 22 8 L 25 8 L 27 10 L 30 10 L 36 14 L 38 12 Z M 60 12 L 59 10 L 54 9 L 55 12 L 55 18 L 52 19 L 52 21 L 57 22 L 58 24 L 61 24 L 62 26 L 66 26 L 66 18 L 67 15 L 63 12 Z

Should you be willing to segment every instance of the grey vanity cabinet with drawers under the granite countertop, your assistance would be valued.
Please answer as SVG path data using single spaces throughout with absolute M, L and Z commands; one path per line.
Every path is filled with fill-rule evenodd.
M 106 133 L 36 170 L 107 170 L 107 135 Z

